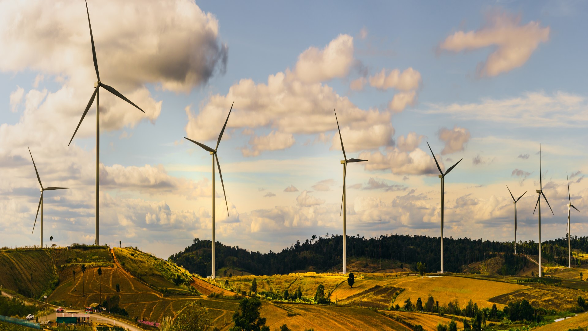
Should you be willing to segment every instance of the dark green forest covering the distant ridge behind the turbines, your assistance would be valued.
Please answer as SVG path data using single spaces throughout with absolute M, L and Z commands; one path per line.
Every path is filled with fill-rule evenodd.
M 445 244 L 445 270 L 447 272 L 462 272 L 470 263 L 485 260 L 497 256 L 505 257 L 506 271 L 515 274 L 526 264 L 520 253 L 537 255 L 537 243 L 534 241 L 519 241 L 517 243 L 517 256 L 514 254 L 513 242 L 490 241 L 482 239 L 446 238 Z M 380 244 L 382 247 L 382 260 L 392 262 L 399 266 L 400 263 L 416 270 L 416 263 L 425 263 L 426 272 L 440 270 L 440 238 L 429 236 L 407 236 L 392 234 L 380 238 L 365 238 L 348 236 L 347 254 L 348 261 L 356 259 L 377 260 L 380 257 Z M 588 237 L 574 237 L 572 249 L 588 250 Z M 343 236 L 312 236 L 303 243 L 296 241 L 290 247 L 286 247 L 279 253 L 259 253 L 242 247 L 229 247 L 217 241 L 216 263 L 217 270 L 223 267 L 232 267 L 244 270 L 256 275 L 262 274 L 286 274 L 296 270 L 313 270 L 316 272 L 338 271 L 342 267 Z M 542 246 L 544 259 L 560 264 L 567 263 L 567 238 L 544 241 Z M 193 240 L 191 246 L 183 251 L 173 254 L 169 260 L 185 267 L 189 272 L 210 276 L 211 274 L 211 241 Z M 572 261 L 577 264 L 576 260 Z

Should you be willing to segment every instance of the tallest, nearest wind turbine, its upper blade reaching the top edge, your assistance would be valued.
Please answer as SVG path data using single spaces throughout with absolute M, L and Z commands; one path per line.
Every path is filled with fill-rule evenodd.
M 94 82 L 94 92 L 92 93 L 92 97 L 90 97 L 90 101 L 88 105 L 86 105 L 86 110 L 83 111 L 82 118 L 79 120 L 78 127 L 75 128 L 74 135 L 72 135 L 71 140 L 69 140 L 69 144 L 72 143 L 74 140 L 74 136 L 76 132 L 78 132 L 79 126 L 82 124 L 83 118 L 86 117 L 88 114 L 88 110 L 92 106 L 94 102 L 94 98 L 96 98 L 96 245 L 100 245 L 100 235 L 99 235 L 99 227 L 100 227 L 100 90 L 99 88 L 102 87 L 106 91 L 111 92 L 112 94 L 116 95 L 117 97 L 129 102 L 138 110 L 143 111 L 139 108 L 138 105 L 133 104 L 131 100 L 128 100 L 124 95 L 122 95 L 119 91 L 116 91 L 113 87 L 108 86 L 100 81 L 100 74 L 98 73 L 98 61 L 96 60 L 96 48 L 94 47 L 94 37 L 92 36 L 92 25 L 90 24 L 90 12 L 88 11 L 88 1 L 86 0 L 86 14 L 88 14 L 88 25 L 90 27 L 90 41 L 92 42 L 92 58 L 94 60 L 94 68 L 96 69 L 96 79 L 98 81 Z M 68 146 L 69 146 L 68 144 Z

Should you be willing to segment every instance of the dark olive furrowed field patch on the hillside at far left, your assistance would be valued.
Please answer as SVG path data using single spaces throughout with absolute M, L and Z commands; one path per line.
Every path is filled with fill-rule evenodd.
M 57 282 L 47 249 L 0 251 L 0 285 L 28 297 L 39 298 Z

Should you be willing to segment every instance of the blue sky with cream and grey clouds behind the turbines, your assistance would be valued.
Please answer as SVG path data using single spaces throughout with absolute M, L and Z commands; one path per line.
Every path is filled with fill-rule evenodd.
M 586 236 L 582 1 L 88 2 L 101 82 L 101 244 L 166 258 L 198 237 L 266 253 L 310 236 Z M 95 239 L 96 81 L 83 1 L 0 1 L 0 245 Z M 541 146 L 541 147 L 540 147 Z M 27 148 L 28 147 L 28 148 Z M 381 202 L 380 202 L 381 201 Z M 380 216 L 381 208 L 381 216 Z M 381 230 L 380 230 L 381 228 Z M 32 233 L 31 233 L 32 231 Z

